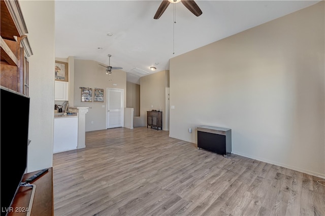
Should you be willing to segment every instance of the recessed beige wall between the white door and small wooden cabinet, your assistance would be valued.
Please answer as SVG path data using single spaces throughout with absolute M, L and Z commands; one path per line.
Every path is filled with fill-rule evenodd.
M 140 85 L 126 82 L 126 107 L 134 108 L 134 116 L 140 116 Z

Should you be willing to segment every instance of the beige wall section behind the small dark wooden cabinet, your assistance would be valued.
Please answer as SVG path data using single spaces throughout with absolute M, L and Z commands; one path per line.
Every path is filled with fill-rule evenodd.
M 160 71 L 140 78 L 140 117 L 147 125 L 147 111 L 155 109 L 163 112 L 163 130 L 168 130 L 166 118 L 166 88 L 169 85 L 169 71 Z M 152 106 L 152 107 L 151 107 Z

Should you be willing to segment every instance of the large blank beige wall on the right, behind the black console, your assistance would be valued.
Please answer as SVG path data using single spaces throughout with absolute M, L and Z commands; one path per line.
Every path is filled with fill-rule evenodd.
M 324 2 L 170 60 L 170 136 L 325 177 Z M 188 133 L 188 128 L 193 133 Z

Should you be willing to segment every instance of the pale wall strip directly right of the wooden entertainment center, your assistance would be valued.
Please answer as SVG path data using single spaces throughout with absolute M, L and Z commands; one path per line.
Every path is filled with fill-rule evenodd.
M 52 167 L 54 122 L 54 1 L 19 1 L 33 55 L 29 57 L 27 172 Z

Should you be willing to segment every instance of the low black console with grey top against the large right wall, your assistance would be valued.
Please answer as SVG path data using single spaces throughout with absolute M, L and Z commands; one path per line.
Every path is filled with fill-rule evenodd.
M 198 127 L 198 149 L 204 148 L 220 155 L 230 155 L 232 151 L 232 130 L 210 126 Z

